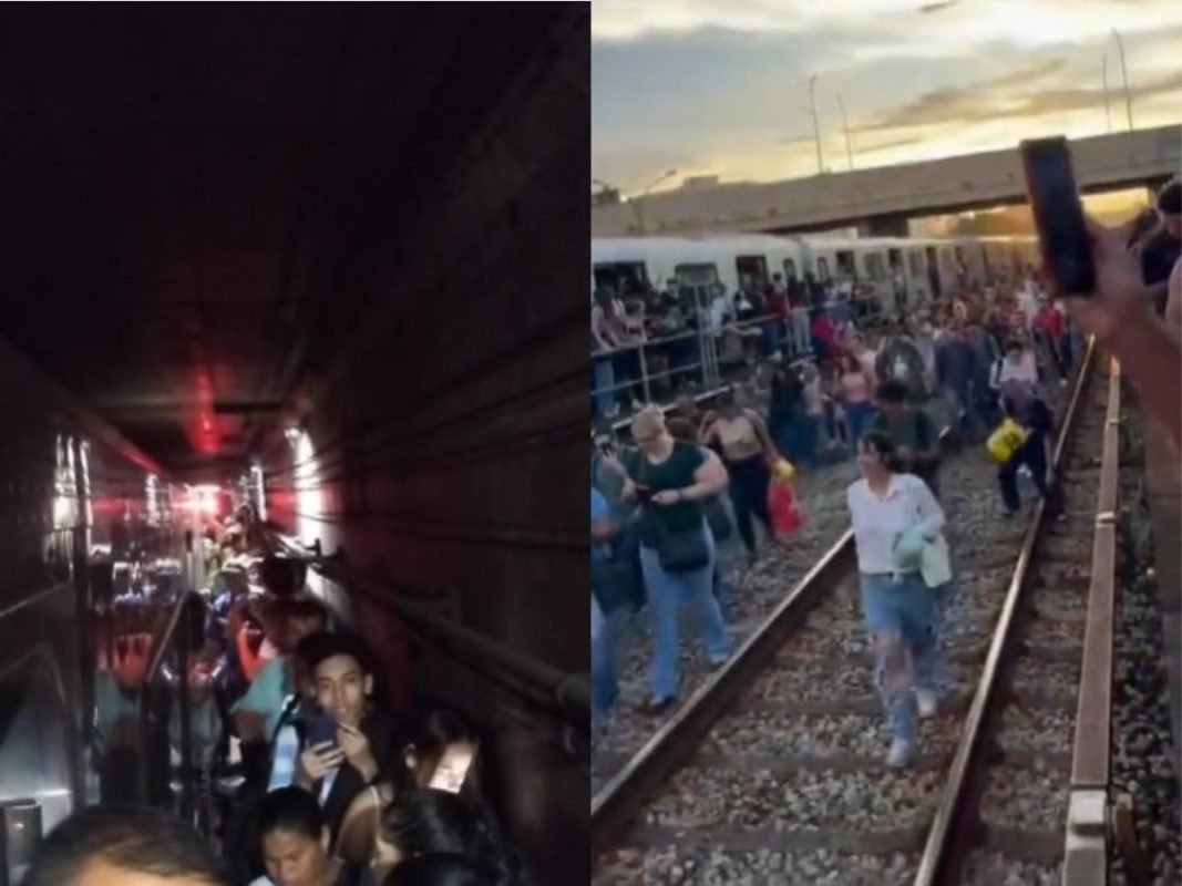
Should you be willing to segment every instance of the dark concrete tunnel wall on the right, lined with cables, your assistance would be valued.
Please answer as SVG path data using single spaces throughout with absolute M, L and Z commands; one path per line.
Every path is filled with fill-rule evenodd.
M 305 542 L 343 546 L 387 593 L 582 673 L 587 517 L 569 490 L 587 457 L 585 14 L 569 37 L 511 85 L 489 141 L 410 242 L 358 269 L 370 311 L 329 318 L 343 361 L 312 380 L 303 419 L 326 450 L 318 478 L 292 482 L 282 439 L 265 469 L 268 516 Z M 309 487 L 320 515 L 306 513 Z M 356 595 L 345 608 L 400 667 L 397 620 Z M 410 679 L 486 729 L 491 778 L 538 881 L 585 881 L 585 767 L 469 672 L 421 659 Z

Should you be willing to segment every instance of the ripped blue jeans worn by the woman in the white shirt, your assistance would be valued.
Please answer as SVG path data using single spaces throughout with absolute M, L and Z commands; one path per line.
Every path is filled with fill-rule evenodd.
M 875 651 L 875 685 L 891 737 L 915 741 L 915 690 L 936 691 L 936 592 L 918 573 L 862 576 L 862 615 Z

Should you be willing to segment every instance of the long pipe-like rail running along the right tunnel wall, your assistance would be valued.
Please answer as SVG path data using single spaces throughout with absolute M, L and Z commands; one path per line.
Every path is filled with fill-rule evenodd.
M 338 581 L 350 591 L 365 597 L 366 600 L 392 611 L 405 619 L 418 633 L 428 633 L 442 639 L 453 649 L 475 652 L 480 665 L 495 665 L 524 683 L 545 703 L 557 703 L 564 716 L 573 715 L 582 721 L 590 716 L 591 688 L 584 675 L 565 673 L 538 659 L 509 649 L 502 643 L 489 639 L 479 631 L 463 627 L 440 618 L 423 606 L 381 593 L 372 580 L 368 580 L 355 571 L 332 558 L 310 552 L 303 545 L 274 530 L 266 530 L 274 545 L 288 554 L 293 554 L 316 568 L 322 575 Z M 520 690 L 519 690 L 520 691 Z

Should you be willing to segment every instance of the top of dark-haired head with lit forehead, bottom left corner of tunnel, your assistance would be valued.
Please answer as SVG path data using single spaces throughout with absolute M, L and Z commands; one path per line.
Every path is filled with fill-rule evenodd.
M 58 825 L 22 886 L 228 886 L 201 836 L 158 809 L 96 806 Z

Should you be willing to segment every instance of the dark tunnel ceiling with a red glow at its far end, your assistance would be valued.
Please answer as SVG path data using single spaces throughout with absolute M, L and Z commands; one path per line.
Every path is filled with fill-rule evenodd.
M 240 464 L 566 5 L 506 6 L 5 4 L 0 334 L 165 468 Z

